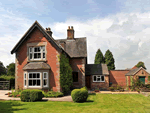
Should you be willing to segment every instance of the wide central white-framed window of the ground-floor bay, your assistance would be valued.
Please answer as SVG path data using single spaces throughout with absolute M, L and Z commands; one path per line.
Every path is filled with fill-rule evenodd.
M 29 87 L 40 87 L 41 86 L 41 73 L 40 72 L 29 72 L 28 73 L 28 86 Z

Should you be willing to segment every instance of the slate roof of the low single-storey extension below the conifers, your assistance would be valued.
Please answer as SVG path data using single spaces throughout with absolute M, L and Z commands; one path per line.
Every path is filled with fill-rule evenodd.
M 86 64 L 85 75 L 109 75 L 106 64 Z

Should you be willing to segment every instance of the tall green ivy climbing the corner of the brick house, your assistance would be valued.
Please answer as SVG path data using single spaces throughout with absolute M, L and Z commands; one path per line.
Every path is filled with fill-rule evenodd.
M 64 95 L 68 94 L 73 84 L 72 68 L 64 53 L 60 55 L 60 86 Z

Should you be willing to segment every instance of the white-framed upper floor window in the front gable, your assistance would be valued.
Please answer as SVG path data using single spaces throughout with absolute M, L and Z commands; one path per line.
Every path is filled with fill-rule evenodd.
M 29 47 L 29 60 L 45 59 L 45 46 Z

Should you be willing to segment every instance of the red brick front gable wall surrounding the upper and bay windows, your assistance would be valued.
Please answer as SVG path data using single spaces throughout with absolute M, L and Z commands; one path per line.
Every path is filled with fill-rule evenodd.
M 50 44 L 47 39 L 43 36 L 42 32 L 35 28 L 33 32 L 29 36 L 30 38 L 20 46 L 17 50 L 17 75 L 16 75 L 16 89 L 23 88 L 23 67 L 27 64 L 27 43 L 32 42 L 47 42 L 47 64 L 50 65 L 51 70 L 49 73 L 50 76 L 50 88 L 54 91 L 60 91 L 60 84 L 59 84 L 59 62 L 58 62 L 58 55 L 56 48 Z

